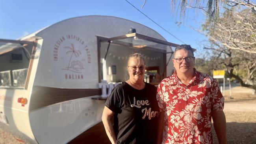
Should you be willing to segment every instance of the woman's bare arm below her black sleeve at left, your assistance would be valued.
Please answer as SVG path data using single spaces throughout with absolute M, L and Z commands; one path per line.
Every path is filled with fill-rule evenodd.
M 115 137 L 114 128 L 113 128 L 114 114 L 115 113 L 111 111 L 108 107 L 106 106 L 104 107 L 104 110 L 102 113 L 102 122 L 104 124 L 108 138 L 112 144 L 115 144 L 115 142 L 117 141 L 117 138 Z

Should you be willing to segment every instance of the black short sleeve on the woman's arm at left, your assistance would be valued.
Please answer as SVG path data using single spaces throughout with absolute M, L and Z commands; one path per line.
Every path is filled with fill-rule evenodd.
M 120 85 L 120 84 L 119 84 Z M 121 88 L 119 86 L 115 87 L 111 94 L 108 96 L 108 99 L 105 102 L 106 107 L 108 107 L 114 113 L 119 113 L 120 103 L 121 103 Z

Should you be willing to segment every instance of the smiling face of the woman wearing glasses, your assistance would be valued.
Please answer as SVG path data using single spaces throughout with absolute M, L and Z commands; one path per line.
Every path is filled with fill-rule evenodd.
M 130 58 L 127 69 L 130 80 L 143 81 L 145 73 L 145 63 L 143 59 Z

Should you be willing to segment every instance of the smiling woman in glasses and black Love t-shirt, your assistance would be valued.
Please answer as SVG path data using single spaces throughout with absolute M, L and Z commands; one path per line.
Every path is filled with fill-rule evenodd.
M 112 144 L 156 144 L 158 103 L 156 87 L 145 83 L 145 61 L 130 55 L 129 79 L 117 85 L 108 97 L 102 122 Z

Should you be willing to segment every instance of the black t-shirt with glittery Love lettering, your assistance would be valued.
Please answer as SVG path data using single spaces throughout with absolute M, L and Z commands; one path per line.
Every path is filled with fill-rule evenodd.
M 144 89 L 137 90 L 122 82 L 105 105 L 115 113 L 116 144 L 156 144 L 159 107 L 155 86 L 145 83 Z

